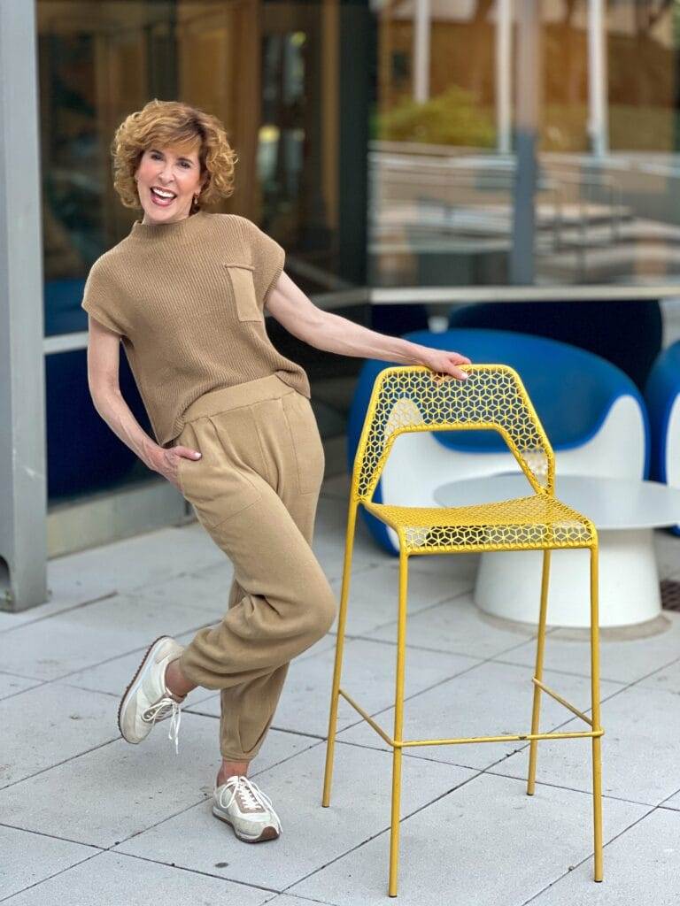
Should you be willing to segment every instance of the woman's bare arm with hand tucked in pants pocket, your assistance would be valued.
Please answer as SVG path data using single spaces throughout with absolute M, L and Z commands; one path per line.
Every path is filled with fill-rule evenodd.
M 121 394 L 120 355 L 118 334 L 104 327 L 91 315 L 87 343 L 87 382 L 94 408 L 126 447 L 131 448 L 147 467 L 160 472 L 160 475 L 179 489 L 178 458 L 184 456 L 197 459 L 198 451 L 188 447 L 162 448 L 141 428 Z

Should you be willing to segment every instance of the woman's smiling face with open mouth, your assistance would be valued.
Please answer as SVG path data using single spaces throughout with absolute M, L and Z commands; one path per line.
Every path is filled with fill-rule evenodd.
M 203 184 L 198 146 L 193 149 L 151 146 L 135 172 L 143 224 L 167 224 L 189 217 Z

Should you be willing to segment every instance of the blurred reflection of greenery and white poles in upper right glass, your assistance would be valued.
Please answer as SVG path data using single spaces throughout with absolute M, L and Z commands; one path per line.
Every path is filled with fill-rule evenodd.
M 517 186 L 530 176 L 517 117 L 536 90 L 534 282 L 680 283 L 680 7 L 543 0 L 536 71 L 524 84 L 527 35 L 513 8 L 375 5 L 372 282 L 514 282 Z

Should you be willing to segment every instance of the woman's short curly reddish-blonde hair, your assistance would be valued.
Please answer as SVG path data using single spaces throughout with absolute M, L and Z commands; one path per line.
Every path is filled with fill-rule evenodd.
M 190 107 L 181 101 L 159 101 L 154 98 L 131 113 L 115 131 L 111 144 L 113 188 L 125 207 L 141 207 L 134 174 L 141 155 L 154 146 L 174 145 L 195 148 L 199 144 L 200 174 L 208 176 L 192 207 L 198 210 L 218 198 L 234 192 L 236 152 L 227 140 L 227 132 L 217 117 Z

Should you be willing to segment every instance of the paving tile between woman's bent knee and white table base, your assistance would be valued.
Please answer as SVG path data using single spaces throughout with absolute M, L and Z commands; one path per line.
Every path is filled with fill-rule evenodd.
M 342 579 L 334 579 L 331 587 L 339 603 Z M 414 570 L 409 576 L 408 610 L 410 613 L 420 612 L 470 588 L 471 579 L 467 577 Z M 398 595 L 399 569 L 393 564 L 374 566 L 353 573 L 347 603 L 347 635 L 370 634 L 384 623 L 395 621 Z M 337 617 L 332 630 L 337 631 Z

